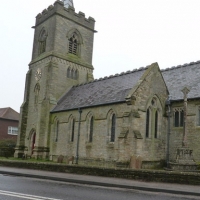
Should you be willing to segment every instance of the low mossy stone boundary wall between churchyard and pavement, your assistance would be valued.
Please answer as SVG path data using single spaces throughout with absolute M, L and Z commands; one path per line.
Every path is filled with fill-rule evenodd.
M 141 181 L 166 182 L 200 185 L 200 172 L 172 172 L 164 170 L 130 170 L 113 169 L 101 167 L 88 167 L 77 165 L 51 164 L 51 163 L 33 163 L 20 161 L 0 160 L 0 166 L 18 167 L 26 169 L 37 169 L 63 173 L 74 173 L 94 176 L 105 176 L 115 178 L 126 178 Z

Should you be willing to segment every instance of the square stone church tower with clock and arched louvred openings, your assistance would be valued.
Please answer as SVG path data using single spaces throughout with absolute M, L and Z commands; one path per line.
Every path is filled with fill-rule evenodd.
M 94 26 L 75 13 L 73 0 L 57 0 L 36 16 L 15 157 L 48 157 L 50 111 L 73 85 L 93 80 Z

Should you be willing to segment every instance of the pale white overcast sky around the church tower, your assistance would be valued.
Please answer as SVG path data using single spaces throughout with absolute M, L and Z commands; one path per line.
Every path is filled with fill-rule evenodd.
M 0 12 L 0 108 L 19 112 L 31 61 L 35 16 L 54 0 L 3 1 Z M 74 0 L 96 20 L 93 65 L 100 78 L 158 62 L 200 60 L 200 0 Z

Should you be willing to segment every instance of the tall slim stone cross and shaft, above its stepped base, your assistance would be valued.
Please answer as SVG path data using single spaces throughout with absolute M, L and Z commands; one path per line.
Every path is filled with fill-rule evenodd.
M 190 90 L 187 87 L 184 87 L 182 90 L 184 95 L 184 121 L 183 121 L 183 147 L 187 147 L 187 95 Z

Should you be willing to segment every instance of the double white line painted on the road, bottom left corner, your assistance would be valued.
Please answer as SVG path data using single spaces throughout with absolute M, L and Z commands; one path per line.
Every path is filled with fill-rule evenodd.
M 23 198 L 23 199 L 30 199 L 30 200 L 61 200 L 61 199 L 54 199 L 54 198 L 35 196 L 35 195 L 16 193 L 16 192 L 9 192 L 9 191 L 3 191 L 3 190 L 0 190 L 0 194 L 6 195 L 6 196 Z

